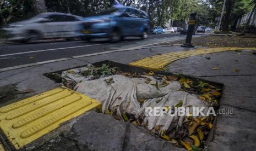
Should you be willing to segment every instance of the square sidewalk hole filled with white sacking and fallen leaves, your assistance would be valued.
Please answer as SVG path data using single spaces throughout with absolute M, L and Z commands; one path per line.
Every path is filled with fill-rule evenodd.
M 112 61 L 45 75 L 102 102 L 101 113 L 148 129 L 152 135 L 190 150 L 207 146 L 215 120 L 214 115 L 195 115 L 195 111 L 204 108 L 204 114 L 213 113 L 209 110 L 212 108 L 217 113 L 224 87 L 187 75 L 153 72 Z M 187 109 L 186 114 L 173 115 L 182 114 L 181 107 Z

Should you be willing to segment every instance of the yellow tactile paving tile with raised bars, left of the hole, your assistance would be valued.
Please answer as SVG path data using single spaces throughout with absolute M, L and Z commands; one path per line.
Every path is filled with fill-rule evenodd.
M 67 88 L 57 88 L 0 108 L 0 128 L 19 149 L 101 103 Z M 0 148 L 1 150 L 1 148 Z

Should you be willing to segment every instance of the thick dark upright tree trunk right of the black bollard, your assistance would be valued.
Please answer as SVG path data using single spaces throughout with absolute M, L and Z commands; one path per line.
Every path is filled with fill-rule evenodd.
M 233 8 L 233 0 L 226 1 L 226 13 L 224 14 L 224 22 L 222 26 L 222 31 L 229 31 L 230 25 L 230 14 Z

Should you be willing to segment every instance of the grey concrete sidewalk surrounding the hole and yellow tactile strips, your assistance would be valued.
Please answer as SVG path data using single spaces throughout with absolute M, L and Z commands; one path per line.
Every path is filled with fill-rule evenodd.
M 43 73 L 60 71 L 111 60 L 128 64 L 144 57 L 190 50 L 181 47 L 156 47 L 118 53 L 81 57 L 45 65 L 26 67 L 0 73 L 0 107 L 59 86 Z M 205 57 L 207 56 L 208 59 Z M 210 57 L 210 59 L 209 59 Z M 173 73 L 192 75 L 223 83 L 220 108 L 233 108 L 233 114 L 219 114 L 208 150 L 254 150 L 256 121 L 256 55 L 250 52 L 227 51 L 188 57 L 166 68 Z M 213 70 L 218 67 L 218 70 Z M 238 69 L 239 72 L 234 72 Z M 8 88 L 8 89 L 7 89 Z M 18 91 L 34 92 L 19 94 Z M 4 93 L 3 93 L 4 92 Z M 4 96 L 6 94 L 6 96 Z M 12 99 L 10 99 L 12 98 Z M 11 101 L 9 101 L 11 100 Z M 28 150 L 184 150 L 150 135 L 147 131 L 94 111 L 62 124 L 58 129 L 31 143 Z

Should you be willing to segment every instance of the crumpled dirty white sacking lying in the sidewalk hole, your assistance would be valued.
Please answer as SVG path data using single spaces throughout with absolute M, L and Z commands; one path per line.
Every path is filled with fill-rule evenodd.
M 182 100 L 183 107 L 206 107 L 197 96 L 181 91 L 179 82 L 174 81 L 170 84 L 156 88 L 156 79 L 151 76 L 150 83 L 145 83 L 146 78 L 128 78 L 123 75 L 112 75 L 110 77 L 90 80 L 78 83 L 75 86 L 78 92 L 89 97 L 95 98 L 102 103 L 102 112 L 107 109 L 110 111 L 117 110 L 117 114 L 122 113 L 133 114 L 135 117 L 144 117 L 143 124 L 149 130 L 157 125 L 163 125 L 161 129 L 167 130 L 172 121 L 178 121 L 176 125 L 182 123 L 184 117 L 171 117 L 165 114 L 162 117 L 145 117 L 146 107 L 172 107 L 176 106 Z M 107 83 L 106 80 L 112 80 Z M 160 80 L 161 81 L 161 80 Z M 144 99 L 144 103 L 140 106 L 137 99 Z

